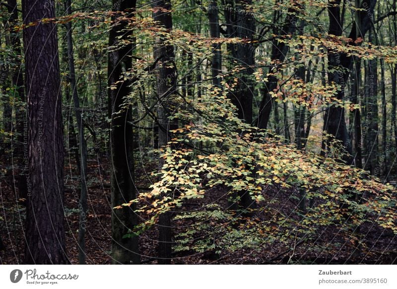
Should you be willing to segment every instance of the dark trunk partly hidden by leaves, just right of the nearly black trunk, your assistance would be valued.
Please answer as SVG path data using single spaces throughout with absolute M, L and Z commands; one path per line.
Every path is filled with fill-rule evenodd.
M 169 0 L 154 0 L 153 7 L 165 8 L 171 10 Z M 159 10 L 153 13 L 155 21 L 167 30 L 172 30 L 171 12 Z M 176 124 L 170 123 L 169 116 L 172 111 L 172 94 L 176 84 L 176 68 L 174 66 L 174 48 L 172 45 L 164 44 L 164 39 L 156 38 L 154 47 L 154 59 L 160 60 L 156 64 L 155 73 L 157 78 L 156 90 L 159 101 L 157 110 L 158 147 L 162 147 L 169 142 L 169 131 L 176 128 Z M 164 165 L 164 159 L 159 158 L 158 169 Z M 172 242 L 171 242 L 171 213 L 163 213 L 158 220 L 159 226 L 159 246 L 158 246 L 158 264 L 171 264 Z

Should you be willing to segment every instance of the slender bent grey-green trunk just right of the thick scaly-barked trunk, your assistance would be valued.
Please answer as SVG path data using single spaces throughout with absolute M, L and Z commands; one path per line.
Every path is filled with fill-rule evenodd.
M 71 0 L 66 0 L 66 15 L 71 14 Z M 77 130 L 78 130 L 78 146 L 80 152 L 80 199 L 79 199 L 79 226 L 78 226 L 78 263 L 85 264 L 85 229 L 86 229 L 86 213 L 87 213 L 87 144 L 84 137 L 84 126 L 82 121 L 82 112 L 80 110 L 80 101 L 77 93 L 77 79 L 74 69 L 73 56 L 73 39 L 71 22 L 66 23 L 67 38 L 67 55 L 69 63 L 69 79 L 72 90 L 72 98 L 74 103 L 74 111 L 76 114 Z

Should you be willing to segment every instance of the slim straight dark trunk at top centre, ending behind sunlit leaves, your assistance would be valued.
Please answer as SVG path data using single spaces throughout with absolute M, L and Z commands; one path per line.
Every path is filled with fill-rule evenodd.
M 218 16 L 218 2 L 212 0 L 208 4 L 208 20 L 209 20 L 209 33 L 213 38 L 220 38 L 219 16 Z M 222 51 L 220 44 L 213 44 L 213 56 L 211 61 L 211 76 L 212 83 L 221 88 L 220 78 L 216 77 L 222 73 Z

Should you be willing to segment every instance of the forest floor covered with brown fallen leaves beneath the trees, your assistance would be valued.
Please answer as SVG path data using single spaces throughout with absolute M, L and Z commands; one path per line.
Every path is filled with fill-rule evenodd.
M 107 159 L 107 158 L 103 158 Z M 1 162 L 4 163 L 4 162 Z M 5 162 L 6 163 L 6 162 Z M 68 164 L 65 168 L 65 233 L 66 250 L 72 264 L 78 263 L 78 194 L 79 182 L 77 167 Z M 0 183 L 0 236 L 5 250 L 0 251 L 1 264 L 23 264 L 25 222 L 24 206 L 16 206 L 13 190 L 12 171 L 1 167 Z M 111 264 L 111 204 L 109 164 L 99 163 L 96 159 L 88 162 L 88 211 L 86 230 L 87 264 Z M 141 178 L 145 179 L 141 172 Z M 139 180 L 139 177 L 138 177 Z M 141 184 L 143 189 L 144 184 Z M 147 186 L 147 185 L 146 185 Z M 139 187 L 139 186 L 138 186 Z M 213 190 L 210 198 L 218 199 L 224 194 L 220 188 Z M 209 200 L 210 201 L 210 200 Z M 198 201 L 192 206 L 203 204 Z M 208 201 L 207 201 L 208 202 Z M 181 220 L 179 220 L 181 221 Z M 183 223 L 178 223 L 178 226 Z M 397 238 L 389 232 L 376 227 L 361 228 L 367 251 L 351 257 L 351 245 L 343 240 L 335 240 L 334 232 L 325 231 L 317 242 L 322 251 L 313 251 L 305 244 L 292 250 L 285 245 L 273 243 L 257 250 L 242 249 L 232 253 L 215 254 L 215 252 L 194 253 L 179 252 L 173 256 L 173 264 L 397 264 Z M 139 250 L 144 264 L 156 264 L 158 231 L 154 227 L 140 236 Z M 343 244 L 335 253 L 332 244 Z M 336 257 L 337 256 L 337 257 Z

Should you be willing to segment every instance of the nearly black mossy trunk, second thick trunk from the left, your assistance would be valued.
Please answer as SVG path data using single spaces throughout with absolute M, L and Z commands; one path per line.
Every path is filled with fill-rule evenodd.
M 113 0 L 114 11 L 132 11 L 136 1 Z M 130 15 L 132 16 L 132 15 Z M 117 21 L 116 16 L 112 17 Z M 120 21 L 112 26 L 109 33 L 109 46 L 118 41 L 132 40 L 132 35 L 127 31 L 128 23 Z M 120 38 L 119 38 L 120 37 Z M 133 135 L 132 128 L 128 125 L 132 121 L 131 107 L 121 107 L 126 97 L 131 93 L 131 81 L 123 79 L 124 71 L 132 70 L 132 51 L 134 44 L 109 52 L 108 85 L 116 85 L 116 89 L 108 89 L 109 118 L 112 119 L 110 130 L 110 149 L 112 155 L 111 171 L 111 203 L 112 208 L 128 203 L 135 199 L 136 188 L 134 185 L 134 160 L 133 160 Z M 137 236 L 124 238 L 137 224 L 137 216 L 133 212 L 134 206 L 123 209 L 112 209 L 112 257 L 113 264 L 138 264 L 138 238 Z

